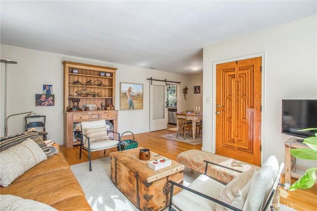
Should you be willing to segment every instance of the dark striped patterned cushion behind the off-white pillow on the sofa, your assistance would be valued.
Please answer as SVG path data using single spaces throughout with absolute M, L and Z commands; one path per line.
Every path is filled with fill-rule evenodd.
M 47 157 L 53 156 L 52 151 L 46 145 L 43 138 L 37 132 L 30 132 L 27 134 L 21 133 L 21 134 L 11 135 L 11 136 L 1 138 L 0 139 L 0 152 L 8 149 L 10 147 L 13 147 L 15 145 L 20 144 L 28 138 L 31 138 L 32 140 L 34 140 L 35 143 L 37 143 L 42 148 L 42 150 L 45 152 Z

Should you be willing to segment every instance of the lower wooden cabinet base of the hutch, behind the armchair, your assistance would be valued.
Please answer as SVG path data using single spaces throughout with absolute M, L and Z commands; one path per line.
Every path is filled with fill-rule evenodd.
M 71 148 L 74 145 L 79 145 L 80 141 L 73 140 L 73 125 L 74 123 L 109 120 L 113 125 L 113 130 L 118 128 L 118 111 L 117 110 L 97 110 L 97 111 L 79 111 L 79 112 L 64 112 L 64 146 Z M 117 135 L 114 136 L 114 138 Z

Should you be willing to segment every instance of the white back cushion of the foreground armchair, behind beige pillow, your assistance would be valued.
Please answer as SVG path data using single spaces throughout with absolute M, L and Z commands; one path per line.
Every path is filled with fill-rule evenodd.
M 243 210 L 262 210 L 264 203 L 272 189 L 278 172 L 278 161 L 275 156 L 270 156 L 262 165 L 262 168 L 251 180 L 251 188 L 243 206 Z

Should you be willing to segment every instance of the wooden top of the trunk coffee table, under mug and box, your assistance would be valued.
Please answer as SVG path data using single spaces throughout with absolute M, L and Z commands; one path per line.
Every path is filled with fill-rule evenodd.
M 174 174 L 178 171 L 184 170 L 184 165 L 171 160 L 171 166 L 165 167 L 159 170 L 153 170 L 148 167 L 148 161 L 153 161 L 159 158 L 164 158 L 153 151 L 151 151 L 151 158 L 148 161 L 142 161 L 139 159 L 139 152 L 142 147 L 123 150 L 118 152 L 111 152 L 111 159 L 116 159 L 118 162 L 125 164 L 129 169 L 137 172 L 141 177 L 146 178 L 147 182 L 153 182 L 160 178 Z

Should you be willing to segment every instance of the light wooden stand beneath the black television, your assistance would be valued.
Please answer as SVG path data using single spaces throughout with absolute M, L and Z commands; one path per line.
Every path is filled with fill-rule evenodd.
M 285 141 L 285 187 L 284 190 L 288 190 L 291 186 L 291 177 L 295 179 L 299 179 L 302 175 L 305 174 L 306 169 L 305 166 L 301 166 L 296 164 L 296 158 L 291 155 L 290 149 L 300 149 L 306 148 L 310 149 L 306 144 L 300 143 L 296 140 L 296 138 L 289 138 Z

